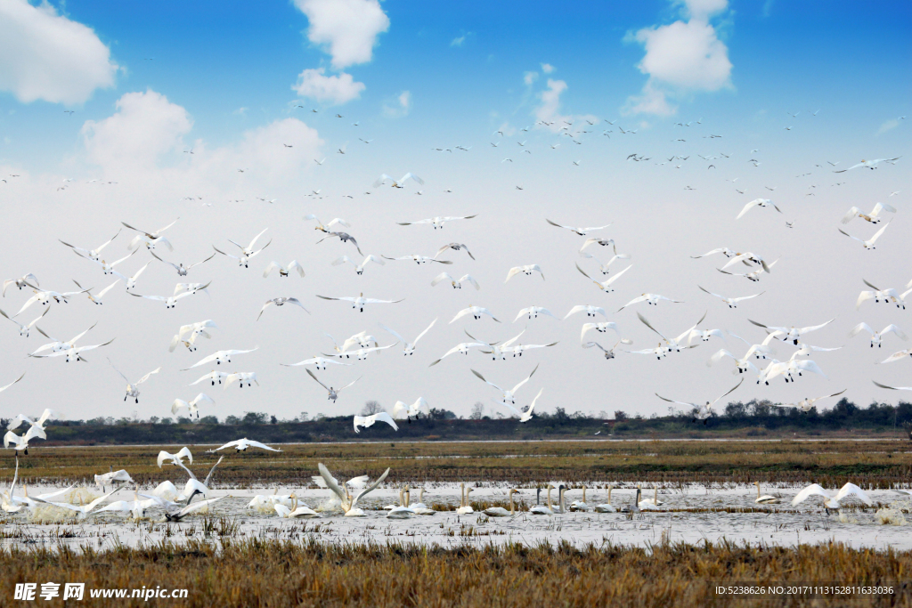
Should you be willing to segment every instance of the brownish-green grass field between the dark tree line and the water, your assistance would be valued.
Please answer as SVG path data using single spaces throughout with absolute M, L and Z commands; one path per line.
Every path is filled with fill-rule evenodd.
M 35 448 L 19 459 L 19 476 L 36 483 L 91 483 L 92 476 L 127 469 L 140 484 L 171 475 L 155 459 L 160 448 Z M 191 468 L 204 477 L 217 457 L 211 446 L 191 446 Z M 389 467 L 388 482 L 497 481 L 535 484 L 550 479 L 595 484 L 646 481 L 663 484 L 789 483 L 816 481 L 838 487 L 889 488 L 912 479 L 912 453 L 904 441 L 554 441 L 465 443 L 369 443 L 284 445 L 281 453 L 228 452 L 216 471 L 216 487 L 283 484 L 306 486 L 323 462 L 340 479 Z M 0 483 L 13 477 L 15 459 L 3 455 Z

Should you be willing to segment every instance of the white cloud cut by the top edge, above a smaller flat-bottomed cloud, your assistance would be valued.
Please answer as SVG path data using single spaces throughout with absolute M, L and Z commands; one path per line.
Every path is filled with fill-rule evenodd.
M 389 29 L 378 0 L 295 0 L 307 15 L 307 39 L 327 46 L 336 69 L 370 61 L 377 36 Z

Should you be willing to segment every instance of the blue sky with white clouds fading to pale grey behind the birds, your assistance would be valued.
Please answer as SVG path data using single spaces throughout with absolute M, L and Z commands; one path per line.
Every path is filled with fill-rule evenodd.
M 733 337 L 660 361 L 627 353 L 606 360 L 580 347 L 580 329 L 592 319 L 564 319 L 575 304 L 606 309 L 607 319 L 597 320 L 616 322 L 634 343 L 618 350 L 658 343 L 637 313 L 671 336 L 706 313 L 701 328 L 751 344 L 765 333 L 748 319 L 782 326 L 834 319 L 807 336 L 811 345 L 842 347 L 811 357 L 825 377 L 803 374 L 793 384 L 780 376 L 758 386 L 749 374 L 731 398 L 787 403 L 847 389 L 856 403 L 895 403 L 901 394 L 871 381 L 912 385 L 912 357 L 875 362 L 909 342 L 887 335 L 872 350 L 864 334 L 848 333 L 860 322 L 912 333 L 912 306 L 855 309 L 863 280 L 899 293 L 912 280 L 904 118 L 912 113 L 910 26 L 907 3 L 0 0 L 3 278 L 35 273 L 42 288 L 66 292 L 76 280 L 97 293 L 113 278 L 58 240 L 94 248 L 122 228 L 101 256 L 119 259 L 135 235 L 120 222 L 155 231 L 180 218 L 163 233 L 174 251 L 154 250 L 174 263 L 199 262 L 213 246 L 236 253 L 229 239 L 245 244 L 263 229 L 260 244 L 269 242 L 249 268 L 216 255 L 192 269 L 189 280 L 212 282 L 209 294 L 174 309 L 131 297 L 122 283 L 100 306 L 81 294 L 51 304 L 37 322 L 48 335 L 68 339 L 98 322 L 79 345 L 115 338 L 87 351 L 88 363 L 28 357 L 47 339 L 34 329 L 22 337 L 0 319 L 0 386 L 26 373 L 0 393 L 0 416 L 43 407 L 69 418 L 171 416 L 173 400 L 192 399 L 202 385 L 188 385 L 211 367 L 181 369 L 219 349 L 254 346 L 228 371 L 254 371 L 260 386 L 206 386 L 215 404 L 202 415 L 348 415 L 369 399 L 391 410 L 418 397 L 462 416 L 478 401 L 488 414 L 508 414 L 493 404 L 496 389 L 471 370 L 513 386 L 539 366 L 517 405 L 544 388 L 536 405 L 542 411 L 650 416 L 668 412 L 656 393 L 700 403 L 740 379 L 731 359 L 707 365 L 720 348 L 743 355 L 747 346 Z M 834 173 L 897 157 L 876 170 Z M 407 172 L 424 184 L 373 186 L 382 173 Z M 736 220 L 756 198 L 782 213 L 754 208 Z M 884 214 L 889 228 L 866 251 L 836 229 L 870 238 L 884 223 L 840 220 L 852 206 L 866 213 L 877 202 L 897 211 Z M 357 275 L 351 265 L 331 265 L 343 254 L 360 260 L 355 247 L 316 244 L 323 233 L 303 219 L 310 213 L 347 220 L 344 230 L 365 254 L 433 256 L 461 242 L 476 259 L 448 252 L 440 259 L 451 265 L 387 261 Z M 398 224 L 473 214 L 441 230 Z M 545 219 L 611 225 L 582 237 Z M 613 239 L 629 260 L 602 277 L 594 260 L 578 254 L 591 236 Z M 691 258 L 718 247 L 778 262 L 751 283 L 716 272 L 726 262 L 720 254 Z M 606 262 L 610 250 L 585 252 Z M 293 259 L 305 268 L 303 279 L 264 279 L 267 263 Z M 147 262 L 132 291 L 171 294 L 179 277 L 145 248 L 119 268 L 131 275 Z M 504 283 L 511 267 L 533 263 L 544 279 L 521 274 Z M 577 263 L 600 280 L 632 267 L 606 294 Z M 471 273 L 481 290 L 431 287 L 441 272 Z M 727 296 L 762 294 L 730 309 L 698 285 Z M 358 313 L 316 298 L 362 292 L 404 300 Z M 682 303 L 617 312 L 647 292 Z M 0 308 L 13 316 L 29 295 L 12 287 Z M 299 298 L 309 314 L 271 306 L 256 321 L 277 296 Z M 451 324 L 469 305 L 487 307 L 503 323 L 470 317 Z M 560 320 L 513 323 L 531 305 Z M 30 323 L 42 310 L 34 304 L 16 320 Z M 332 386 L 359 378 L 335 405 L 305 367 L 279 365 L 333 352 L 325 333 L 343 340 L 367 330 L 389 345 L 396 338 L 379 323 L 412 340 L 435 318 L 414 356 L 403 357 L 398 345 L 316 372 Z M 218 325 L 211 339 L 201 339 L 195 353 L 169 353 L 178 327 L 204 319 Z M 523 344 L 558 344 L 506 361 L 473 351 L 429 367 L 470 341 L 466 330 L 503 342 L 523 329 Z M 590 332 L 586 340 L 609 347 L 617 337 Z M 776 358 L 791 356 L 791 345 L 773 345 Z M 124 383 L 108 358 L 131 379 L 161 366 L 140 386 L 139 404 L 123 401 Z

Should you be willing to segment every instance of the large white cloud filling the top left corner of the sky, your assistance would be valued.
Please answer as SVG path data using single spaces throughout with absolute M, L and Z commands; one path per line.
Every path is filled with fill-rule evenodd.
M 117 69 L 91 28 L 51 5 L 0 0 L 0 90 L 25 103 L 82 103 L 112 87 Z

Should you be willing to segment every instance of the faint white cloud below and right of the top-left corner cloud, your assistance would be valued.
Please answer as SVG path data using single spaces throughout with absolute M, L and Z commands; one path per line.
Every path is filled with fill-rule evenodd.
M 181 149 L 192 129 L 187 110 L 147 90 L 119 98 L 117 112 L 82 126 L 88 160 L 108 169 L 149 168 L 162 155 Z

